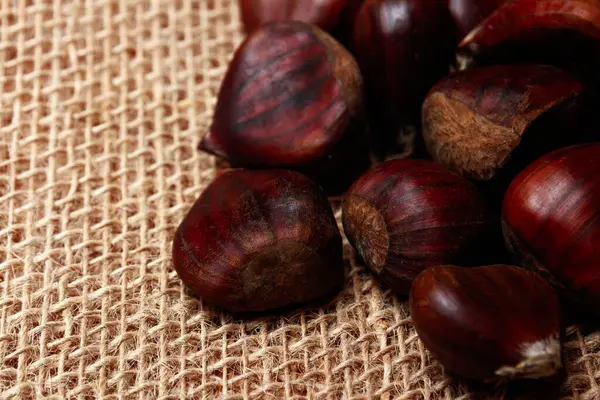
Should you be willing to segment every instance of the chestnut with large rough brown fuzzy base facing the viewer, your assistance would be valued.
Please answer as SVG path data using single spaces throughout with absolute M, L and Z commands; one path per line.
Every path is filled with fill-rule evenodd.
M 436 161 L 489 181 L 597 136 L 584 86 L 552 66 L 476 68 L 434 86 L 423 105 L 423 136 Z

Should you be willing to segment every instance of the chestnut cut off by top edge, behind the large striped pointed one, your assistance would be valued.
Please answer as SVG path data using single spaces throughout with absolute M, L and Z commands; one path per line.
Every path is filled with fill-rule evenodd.
M 338 26 L 344 0 L 239 0 L 246 32 L 268 22 L 300 21 L 331 31 Z

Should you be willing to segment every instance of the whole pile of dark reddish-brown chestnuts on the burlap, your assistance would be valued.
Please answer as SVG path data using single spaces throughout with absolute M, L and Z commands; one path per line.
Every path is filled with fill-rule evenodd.
M 563 315 L 600 314 L 600 0 L 240 9 L 199 144 L 230 168 L 175 233 L 182 281 L 235 313 L 335 297 L 342 196 L 345 237 L 448 371 L 560 375 Z

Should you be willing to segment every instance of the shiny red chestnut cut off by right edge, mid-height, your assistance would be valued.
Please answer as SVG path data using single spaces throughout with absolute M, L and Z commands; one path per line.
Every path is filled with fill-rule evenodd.
M 600 315 L 600 144 L 552 152 L 521 172 L 504 198 L 509 248 L 567 298 Z

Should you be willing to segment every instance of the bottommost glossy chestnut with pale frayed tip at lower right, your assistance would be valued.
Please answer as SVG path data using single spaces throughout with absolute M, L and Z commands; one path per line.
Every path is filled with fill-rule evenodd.
M 534 272 L 428 268 L 412 286 L 410 313 L 425 347 L 463 377 L 546 378 L 561 370 L 558 296 Z

